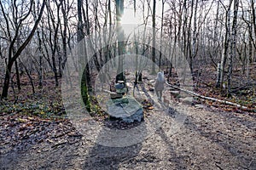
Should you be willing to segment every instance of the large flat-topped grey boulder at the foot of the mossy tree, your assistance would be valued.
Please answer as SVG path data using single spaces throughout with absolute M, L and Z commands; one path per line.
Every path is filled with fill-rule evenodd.
M 131 97 L 109 100 L 108 114 L 124 122 L 143 121 L 143 107 Z

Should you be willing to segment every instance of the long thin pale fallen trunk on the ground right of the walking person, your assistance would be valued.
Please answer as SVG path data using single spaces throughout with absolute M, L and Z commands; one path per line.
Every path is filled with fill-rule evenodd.
M 239 105 L 239 104 L 236 104 L 236 103 L 233 103 L 233 102 L 230 102 L 230 101 L 225 101 L 225 100 L 222 100 L 222 99 L 210 98 L 210 97 L 207 97 L 207 96 L 203 96 L 203 95 L 201 95 L 201 94 L 196 94 L 195 92 L 191 92 L 191 91 L 189 91 L 189 90 L 186 90 L 186 89 L 183 89 L 183 88 L 179 88 L 179 87 L 174 86 L 174 85 L 172 85 L 172 84 L 170 84 L 170 83 L 168 83 L 168 82 L 166 82 L 166 84 L 167 84 L 168 86 L 172 87 L 172 88 L 176 88 L 176 89 L 178 89 L 178 90 L 181 90 L 181 91 L 185 92 L 186 94 L 190 94 L 190 95 L 192 95 L 192 96 L 196 96 L 196 97 L 199 97 L 199 98 L 201 98 L 201 99 L 209 99 L 209 100 L 212 100 L 212 101 L 217 101 L 217 102 L 222 103 L 222 104 L 234 105 L 234 106 L 236 106 L 236 107 L 240 107 L 241 109 L 247 109 L 247 107 L 246 107 L 246 106 L 243 106 L 243 105 Z

